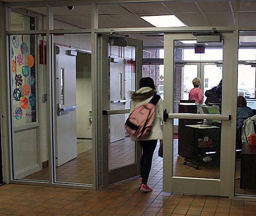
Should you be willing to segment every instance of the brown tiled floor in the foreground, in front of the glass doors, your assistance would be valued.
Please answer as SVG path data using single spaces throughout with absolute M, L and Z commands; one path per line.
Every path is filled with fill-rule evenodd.
M 162 192 L 158 166 L 154 162 L 149 182 L 153 191 L 147 194 L 138 191 L 137 177 L 98 191 L 4 185 L 0 187 L 0 216 L 256 216 L 256 202 Z

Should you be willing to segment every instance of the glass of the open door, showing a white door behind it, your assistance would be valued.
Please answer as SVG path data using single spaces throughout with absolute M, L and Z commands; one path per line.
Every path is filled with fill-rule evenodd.
M 135 91 L 135 51 L 136 47 L 132 46 L 108 47 L 109 108 L 112 110 L 130 109 L 131 94 Z M 124 130 L 128 116 L 128 113 L 108 116 L 108 169 L 135 163 L 135 142 L 130 140 L 130 134 Z

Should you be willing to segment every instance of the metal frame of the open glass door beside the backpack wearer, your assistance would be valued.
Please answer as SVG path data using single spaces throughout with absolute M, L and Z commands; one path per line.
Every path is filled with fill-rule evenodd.
M 97 74 L 97 92 L 100 104 L 98 104 L 98 184 L 100 187 L 105 187 L 109 184 L 116 183 L 120 180 L 138 176 L 141 169 L 141 146 L 135 142 L 135 163 L 119 167 L 116 169 L 108 169 L 108 115 L 129 113 L 130 109 L 125 110 L 108 110 L 108 42 L 109 34 L 97 34 L 97 60 L 98 60 L 98 74 Z M 135 86 L 136 90 L 139 86 L 139 80 L 142 77 L 142 41 L 126 38 L 128 46 L 138 47 L 136 49 L 136 64 L 135 64 Z

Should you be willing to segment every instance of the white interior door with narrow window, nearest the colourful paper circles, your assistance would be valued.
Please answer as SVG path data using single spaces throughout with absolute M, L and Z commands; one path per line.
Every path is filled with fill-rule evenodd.
M 76 51 L 55 47 L 56 166 L 77 157 Z

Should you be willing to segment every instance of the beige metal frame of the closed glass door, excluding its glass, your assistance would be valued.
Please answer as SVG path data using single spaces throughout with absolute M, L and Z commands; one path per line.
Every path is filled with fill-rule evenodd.
M 235 129 L 236 129 L 236 91 L 228 86 L 235 86 L 237 84 L 237 70 L 234 68 L 233 56 L 230 53 L 234 51 L 234 34 L 233 32 L 223 32 L 224 39 L 223 47 L 223 89 L 222 89 L 222 114 L 231 115 L 230 121 L 222 121 L 221 128 L 221 155 L 220 155 L 220 179 L 197 179 L 187 177 L 173 176 L 173 157 L 168 157 L 168 152 L 173 155 L 173 119 L 167 119 L 164 122 L 164 156 L 163 156 L 163 189 L 168 192 L 177 193 L 192 193 L 192 194 L 208 194 L 229 196 L 230 191 L 234 191 L 234 154 L 235 154 Z M 164 36 L 164 71 L 165 82 L 173 83 L 173 70 L 174 70 L 174 44 L 173 40 L 195 40 L 195 36 L 188 33 L 169 34 Z M 234 76 L 235 75 L 235 76 Z M 173 116 L 173 85 L 165 85 L 165 100 L 163 107 L 167 108 L 167 112 Z M 167 94 L 169 93 L 169 94 Z M 194 114 L 198 115 L 198 114 Z M 192 115 L 191 115 L 192 116 Z M 173 117 L 177 118 L 177 117 Z M 225 136 L 224 136 L 225 134 Z M 171 140 L 168 142 L 168 140 Z M 232 144 L 233 143 L 233 144 Z M 232 189 L 233 187 L 233 189 Z M 234 193 L 233 193 L 234 194 Z

